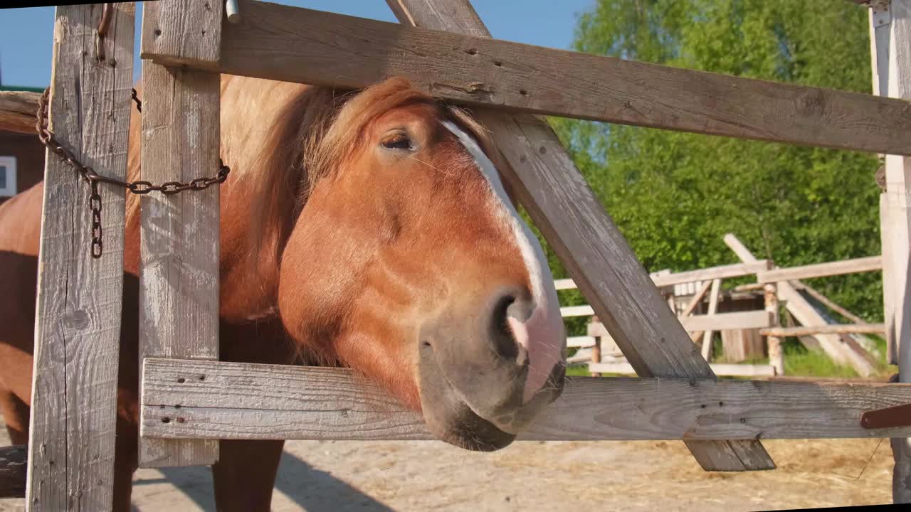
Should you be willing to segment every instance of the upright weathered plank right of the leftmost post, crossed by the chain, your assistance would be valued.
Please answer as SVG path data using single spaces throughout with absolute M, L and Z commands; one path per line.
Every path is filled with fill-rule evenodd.
M 194 58 L 212 56 L 204 48 L 213 44 L 211 30 L 221 25 L 223 3 L 182 4 L 146 4 L 143 44 L 156 31 L 176 31 L 184 34 L 179 49 Z M 201 29 L 194 33 L 194 26 Z M 161 183 L 213 176 L 219 169 L 220 77 L 149 61 L 143 61 L 142 76 L 143 179 Z M 217 360 L 219 188 L 148 194 L 141 201 L 140 357 Z M 139 439 L 141 467 L 205 466 L 218 458 L 217 441 Z

